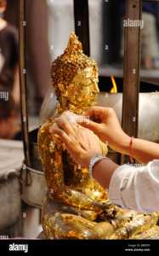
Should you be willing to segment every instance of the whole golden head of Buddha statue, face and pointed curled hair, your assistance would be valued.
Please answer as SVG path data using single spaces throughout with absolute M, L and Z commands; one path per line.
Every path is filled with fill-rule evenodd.
M 94 104 L 99 93 L 98 68 L 94 60 L 83 54 L 74 32 L 64 54 L 53 62 L 51 77 L 62 107 L 88 108 Z

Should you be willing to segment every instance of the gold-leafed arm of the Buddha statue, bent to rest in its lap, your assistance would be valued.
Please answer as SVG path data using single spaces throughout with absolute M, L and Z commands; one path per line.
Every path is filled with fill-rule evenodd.
M 38 148 L 49 191 L 53 191 L 54 198 L 67 205 L 85 210 L 101 211 L 106 207 L 104 203 L 93 201 L 87 195 L 65 185 L 62 162 L 63 148 L 60 140 L 54 142 L 54 138 L 49 132 L 50 125 L 52 123 L 49 122 L 43 125 L 38 133 Z

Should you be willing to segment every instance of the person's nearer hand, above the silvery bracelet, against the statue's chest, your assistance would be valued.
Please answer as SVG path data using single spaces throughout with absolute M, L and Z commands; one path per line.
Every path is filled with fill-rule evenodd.
M 55 125 L 50 128 L 50 132 L 60 137 L 72 159 L 78 165 L 88 167 L 94 154 L 102 154 L 99 138 L 93 131 L 77 125 L 76 122 L 70 122 L 68 112 L 62 113 L 58 119 L 54 120 Z

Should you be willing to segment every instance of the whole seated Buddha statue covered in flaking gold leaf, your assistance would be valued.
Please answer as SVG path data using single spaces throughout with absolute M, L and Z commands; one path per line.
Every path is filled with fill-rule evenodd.
M 94 105 L 99 93 L 96 63 L 83 54 L 82 44 L 74 33 L 64 54 L 53 62 L 51 76 L 58 103 L 54 116 L 38 132 L 38 148 L 48 186 L 42 213 L 44 235 L 47 239 L 155 236 L 156 213 L 137 213 L 112 205 L 105 189 L 89 177 L 87 168 L 71 159 L 60 137 L 50 132 L 55 117 L 65 110 L 82 114 Z M 72 129 L 76 129 L 76 125 L 72 125 Z M 87 140 L 87 134 L 82 136 Z M 95 135 L 94 140 L 101 154 L 107 154 L 106 144 Z

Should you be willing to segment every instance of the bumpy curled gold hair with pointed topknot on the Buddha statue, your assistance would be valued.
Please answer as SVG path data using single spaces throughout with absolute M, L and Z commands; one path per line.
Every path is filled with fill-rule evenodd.
M 65 96 L 68 84 L 76 74 L 85 68 L 92 67 L 94 79 L 98 81 L 98 68 L 94 60 L 83 54 L 82 44 L 75 32 L 71 32 L 67 47 L 62 55 L 52 63 L 51 78 L 56 96 Z

